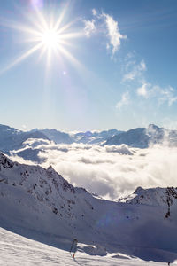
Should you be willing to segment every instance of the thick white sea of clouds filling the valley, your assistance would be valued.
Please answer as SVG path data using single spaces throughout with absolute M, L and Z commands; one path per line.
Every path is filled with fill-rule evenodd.
M 26 148 L 40 149 L 42 167 L 50 165 L 75 186 L 105 199 L 117 200 L 142 186 L 177 186 L 177 148 L 154 145 L 148 149 L 127 145 L 56 145 L 27 140 Z M 31 163 L 15 156 L 13 160 Z

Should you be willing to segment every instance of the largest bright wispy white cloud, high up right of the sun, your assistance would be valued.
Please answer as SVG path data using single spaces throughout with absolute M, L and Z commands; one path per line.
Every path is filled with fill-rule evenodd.
M 109 43 L 107 47 L 112 47 L 112 54 L 119 50 L 120 40 L 126 39 L 127 36 L 121 35 L 119 33 L 118 22 L 113 20 L 112 16 L 103 13 L 104 21 L 107 27 L 107 36 L 109 38 Z

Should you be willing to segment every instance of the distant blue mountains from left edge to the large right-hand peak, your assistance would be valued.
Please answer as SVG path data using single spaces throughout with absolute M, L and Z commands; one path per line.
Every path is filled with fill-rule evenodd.
M 12 150 L 19 150 L 24 147 L 24 142 L 29 138 L 50 140 L 55 144 L 82 143 L 100 145 L 108 138 L 119 135 L 121 132 L 117 129 L 101 132 L 78 132 L 75 134 L 68 134 L 57 129 L 32 129 L 24 132 L 9 126 L 0 125 L 0 151 L 9 153 Z

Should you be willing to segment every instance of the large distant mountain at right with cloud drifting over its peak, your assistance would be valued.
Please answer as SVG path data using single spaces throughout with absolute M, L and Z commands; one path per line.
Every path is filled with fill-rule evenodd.
M 165 137 L 170 144 L 177 144 L 177 131 L 158 128 L 150 124 L 147 129 L 131 129 L 111 137 L 105 142 L 105 145 L 126 144 L 137 148 L 148 148 L 151 144 L 161 144 L 165 140 Z

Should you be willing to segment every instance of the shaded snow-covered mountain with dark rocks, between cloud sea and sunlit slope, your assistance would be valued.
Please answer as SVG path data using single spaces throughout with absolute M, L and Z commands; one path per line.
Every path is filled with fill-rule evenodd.
M 51 167 L 19 164 L 0 153 L 0 226 L 65 250 L 77 238 L 89 245 L 83 249 L 88 254 L 173 262 L 176 195 L 174 188 L 138 188 L 129 201 L 101 200 Z

